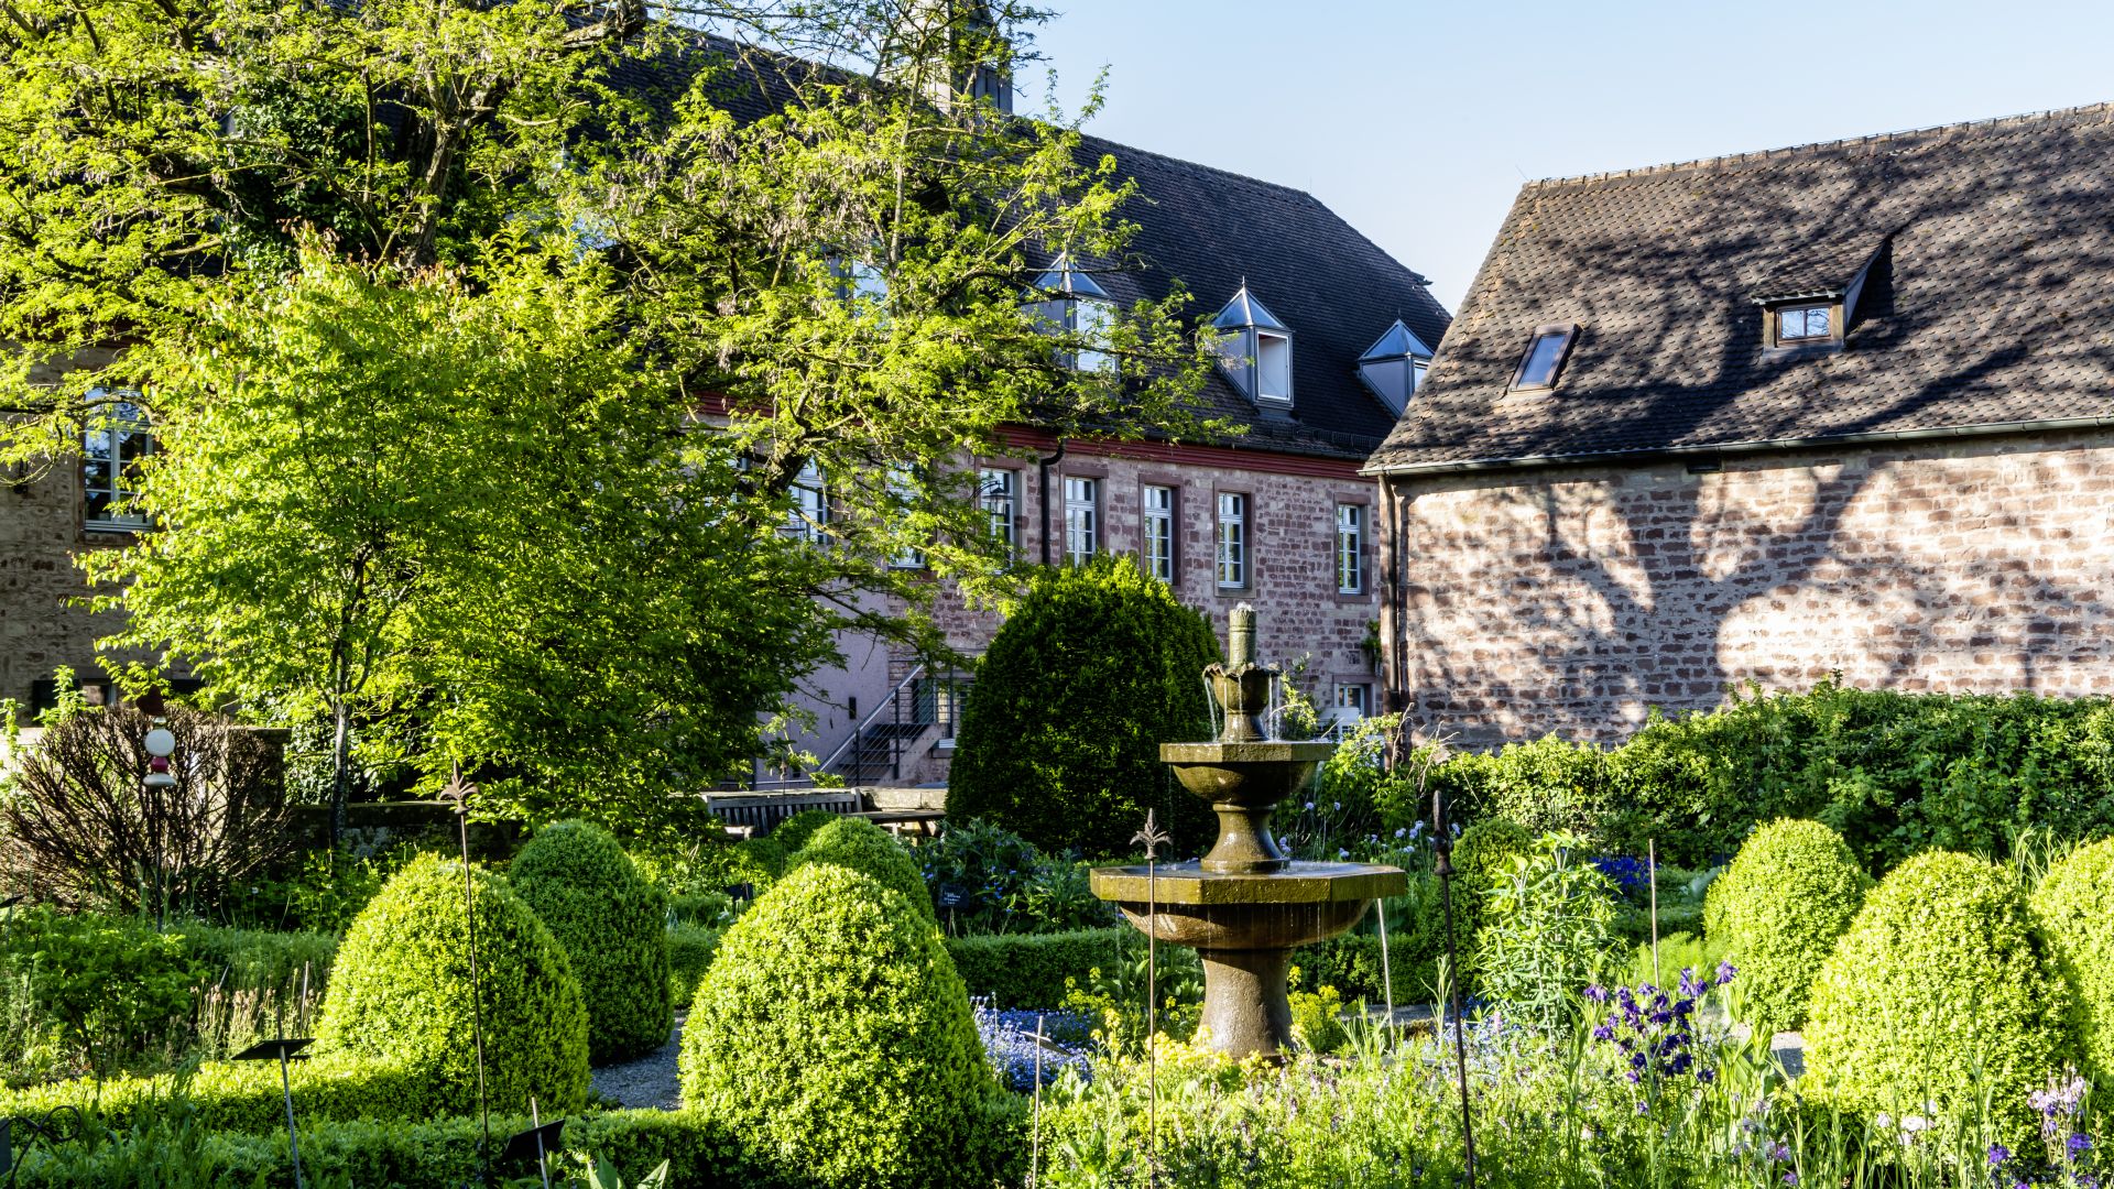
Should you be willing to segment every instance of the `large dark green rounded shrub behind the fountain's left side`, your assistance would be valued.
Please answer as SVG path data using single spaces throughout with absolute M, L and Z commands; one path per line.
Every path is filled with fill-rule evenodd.
M 1123 855 L 1150 808 L 1177 853 L 1201 853 L 1216 819 L 1175 785 L 1161 743 L 1211 738 L 1199 675 L 1218 658 L 1209 622 L 1137 563 L 1044 571 L 977 669 L 947 817 L 1044 850 Z

